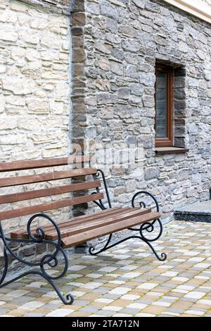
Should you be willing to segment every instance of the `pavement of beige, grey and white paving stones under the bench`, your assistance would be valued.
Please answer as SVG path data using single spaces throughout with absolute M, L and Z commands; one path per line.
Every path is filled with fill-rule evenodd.
M 0 316 L 211 316 L 211 225 L 174 221 L 155 245 L 134 241 L 94 257 L 75 255 L 57 282 L 75 302 L 64 306 L 39 277 L 0 289 Z

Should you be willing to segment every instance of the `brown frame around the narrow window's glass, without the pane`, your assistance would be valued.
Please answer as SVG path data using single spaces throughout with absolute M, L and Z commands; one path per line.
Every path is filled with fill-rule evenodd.
M 155 138 L 156 147 L 170 147 L 174 146 L 173 135 L 173 115 L 174 115 L 174 68 L 167 65 L 156 65 L 155 75 L 157 77 L 158 71 L 167 73 L 167 137 Z M 155 135 L 156 135 L 156 91 L 157 91 L 157 78 L 155 81 Z

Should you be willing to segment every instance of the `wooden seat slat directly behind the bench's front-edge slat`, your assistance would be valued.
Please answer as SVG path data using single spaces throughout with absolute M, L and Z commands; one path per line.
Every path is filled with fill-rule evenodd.
M 69 224 L 69 226 L 66 226 L 65 228 L 60 227 L 61 235 L 63 238 L 72 235 L 77 235 L 84 231 L 94 230 L 99 227 L 104 227 L 110 224 L 119 223 L 122 220 L 129 220 L 130 218 L 134 218 L 151 212 L 151 208 L 144 208 L 142 210 L 139 208 L 138 211 L 137 210 L 134 211 L 133 208 L 130 209 L 131 209 L 130 211 L 127 212 L 124 211 L 124 213 L 120 213 L 119 215 L 114 214 L 113 216 L 110 217 L 107 216 L 107 218 L 103 218 L 99 220 L 91 220 L 89 223 L 85 223 L 85 224 L 81 223 L 79 225 L 74 225 L 74 226 Z M 57 234 L 55 231 L 46 233 L 46 240 L 56 240 L 56 239 L 57 239 Z

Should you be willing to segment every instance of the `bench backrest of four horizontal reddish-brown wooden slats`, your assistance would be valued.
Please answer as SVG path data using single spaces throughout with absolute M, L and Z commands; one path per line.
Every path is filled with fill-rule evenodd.
M 17 187 L 19 185 L 30 185 L 41 182 L 53 182 L 55 180 L 77 178 L 77 182 L 68 182 L 67 185 L 55 185 L 44 189 L 32 189 L 27 192 L 17 192 L 11 194 L 0 194 L 0 205 L 10 204 L 9 210 L 0 211 L 0 222 L 15 217 L 27 216 L 34 213 L 42 213 L 57 208 L 75 206 L 89 201 L 103 199 L 103 193 L 99 192 L 101 181 L 97 179 L 96 168 L 75 168 L 68 170 L 54 170 L 53 167 L 64 165 L 77 165 L 89 162 L 89 156 L 70 156 L 68 158 L 49 158 L 36 161 L 13 161 L 0 163 L 0 173 L 17 172 L 19 170 L 35 170 L 39 168 L 48 168 L 47 172 L 34 175 L 18 175 L 0 178 L 0 189 L 3 187 Z M 51 172 L 49 172 L 51 168 Z M 87 175 L 92 175 L 91 180 L 87 180 Z M 81 178 L 81 180 L 78 180 Z M 96 189 L 96 193 L 84 193 L 87 189 Z M 49 203 L 34 204 L 33 199 L 55 196 L 59 194 L 79 192 L 80 196 L 68 197 L 67 199 L 58 199 Z M 83 192 L 83 195 L 81 194 Z M 23 208 L 11 208 L 11 203 L 18 201 L 32 200 L 30 206 Z

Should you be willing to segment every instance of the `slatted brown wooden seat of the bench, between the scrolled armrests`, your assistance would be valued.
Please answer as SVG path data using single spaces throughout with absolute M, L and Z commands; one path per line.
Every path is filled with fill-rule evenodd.
M 115 207 L 60 222 L 58 227 L 63 239 L 62 246 L 68 248 L 158 218 L 160 214 L 152 212 L 151 208 Z M 42 226 L 42 229 L 46 240 L 57 239 L 57 232 L 53 225 Z M 37 237 L 35 230 L 35 228 L 32 229 L 32 235 Z M 19 230 L 11 232 L 11 238 L 29 239 L 29 236 L 26 230 Z

